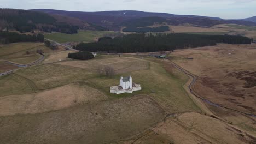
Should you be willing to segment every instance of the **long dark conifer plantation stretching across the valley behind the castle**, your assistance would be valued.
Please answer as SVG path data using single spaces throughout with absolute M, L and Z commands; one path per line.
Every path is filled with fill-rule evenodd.
M 202 46 L 227 44 L 251 44 L 251 39 L 230 35 L 200 35 L 200 34 L 129 34 L 123 37 L 103 37 L 98 42 L 80 43 L 74 49 L 91 52 L 156 52 L 175 49 L 195 48 Z

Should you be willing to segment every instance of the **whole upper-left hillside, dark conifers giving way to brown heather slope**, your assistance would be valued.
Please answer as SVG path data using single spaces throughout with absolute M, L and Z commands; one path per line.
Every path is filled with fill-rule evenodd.
M 20 9 L 0 9 L 0 30 L 10 29 L 19 32 L 40 30 L 44 32 L 62 32 L 67 34 L 77 33 L 81 29 L 106 30 L 86 23 L 74 17 L 49 15 L 39 11 Z

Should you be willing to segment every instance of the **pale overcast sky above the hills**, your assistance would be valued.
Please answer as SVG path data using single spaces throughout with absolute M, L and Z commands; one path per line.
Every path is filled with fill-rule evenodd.
M 256 0 L 0 0 L 0 7 L 70 11 L 141 10 L 239 19 L 256 16 Z

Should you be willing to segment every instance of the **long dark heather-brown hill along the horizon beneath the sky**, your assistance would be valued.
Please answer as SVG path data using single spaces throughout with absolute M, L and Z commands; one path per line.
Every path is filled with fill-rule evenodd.
M 122 11 L 99 11 L 99 12 L 81 12 L 81 11 L 64 11 L 53 9 L 33 9 L 33 11 L 42 11 L 48 14 L 65 15 L 75 17 L 80 20 L 95 23 L 102 27 L 107 27 L 111 30 L 119 31 L 124 23 L 134 23 L 136 21 L 143 22 L 152 17 L 163 18 L 164 21 L 171 25 L 180 25 L 182 23 L 189 23 L 197 26 L 214 26 L 224 23 L 234 23 L 238 25 L 256 26 L 254 22 L 241 20 L 223 20 L 218 17 L 196 16 L 196 15 L 174 15 L 167 13 L 150 13 L 143 11 L 122 10 Z M 145 18 L 146 17 L 146 18 Z M 148 18 L 147 18 L 148 17 Z M 145 18 L 145 19 L 144 19 Z M 159 19 L 158 19 L 159 20 Z M 158 20 L 153 22 L 158 22 Z M 152 20 L 150 20 L 152 21 Z

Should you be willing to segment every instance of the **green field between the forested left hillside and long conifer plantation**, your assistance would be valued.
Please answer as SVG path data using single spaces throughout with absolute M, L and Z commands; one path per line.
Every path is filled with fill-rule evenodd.
M 44 37 L 50 40 L 57 41 L 58 43 L 66 42 L 93 42 L 104 35 L 117 35 L 118 32 L 113 31 L 82 31 L 79 30 L 77 34 L 65 33 L 50 33 L 45 34 Z

